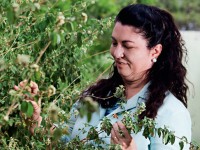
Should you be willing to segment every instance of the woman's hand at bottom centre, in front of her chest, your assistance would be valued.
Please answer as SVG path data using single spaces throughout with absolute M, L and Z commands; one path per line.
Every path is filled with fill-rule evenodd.
M 111 143 L 120 144 L 122 146 L 122 150 L 137 150 L 134 139 L 121 122 L 113 124 L 113 128 L 111 130 Z

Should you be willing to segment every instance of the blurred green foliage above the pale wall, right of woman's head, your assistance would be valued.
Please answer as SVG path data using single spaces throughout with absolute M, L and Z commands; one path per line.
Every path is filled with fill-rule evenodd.
M 200 29 L 199 0 L 137 0 L 137 3 L 158 6 L 171 12 L 181 30 Z

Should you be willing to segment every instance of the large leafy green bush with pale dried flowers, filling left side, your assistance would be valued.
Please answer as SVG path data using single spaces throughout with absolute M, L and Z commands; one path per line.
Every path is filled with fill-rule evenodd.
M 90 0 L 1 1 L 0 145 L 4 149 L 45 149 L 66 134 L 66 128 L 56 129 L 53 135 L 49 129 L 53 122 L 67 122 L 72 104 L 90 83 L 84 80 L 87 65 L 82 60 L 101 30 L 112 24 L 110 18 L 88 18 L 87 7 L 94 4 Z M 25 79 L 26 86 L 15 91 L 13 87 Z M 30 94 L 30 81 L 39 85 L 35 97 Z M 35 136 L 28 131 L 33 107 L 26 97 L 42 108 L 43 122 Z

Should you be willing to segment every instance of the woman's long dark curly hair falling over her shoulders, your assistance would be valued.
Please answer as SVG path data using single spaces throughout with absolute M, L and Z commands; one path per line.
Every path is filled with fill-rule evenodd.
M 148 48 L 157 44 L 162 45 L 162 52 L 157 62 L 147 72 L 147 81 L 151 81 L 148 87 L 149 95 L 146 101 L 146 111 L 140 117 L 155 118 L 168 90 L 187 107 L 186 68 L 182 64 L 183 57 L 187 56 L 187 49 L 172 15 L 154 6 L 132 4 L 119 12 L 115 19 L 116 22 L 139 29 L 148 41 Z M 82 96 L 84 97 L 87 93 L 99 97 L 94 100 L 103 108 L 112 107 L 117 99 L 104 98 L 110 93 L 113 94 L 117 86 L 123 85 L 117 68 L 114 65 L 113 67 L 114 71 L 108 79 L 98 81 L 83 92 Z

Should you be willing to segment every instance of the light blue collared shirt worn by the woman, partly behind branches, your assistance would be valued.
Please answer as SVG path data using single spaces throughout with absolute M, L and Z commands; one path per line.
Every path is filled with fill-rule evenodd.
M 139 104 L 141 102 L 145 102 L 147 96 L 147 88 L 149 84 L 146 84 L 136 95 L 130 98 L 127 103 L 124 104 L 124 108 L 117 107 L 115 110 L 111 111 L 106 117 L 111 120 L 111 123 L 114 124 L 117 121 L 122 120 L 123 115 L 121 115 L 124 111 L 129 111 L 131 113 L 136 112 Z M 79 103 L 75 103 L 71 114 L 72 117 L 70 119 L 69 124 L 69 136 L 63 136 L 62 139 L 67 142 L 70 139 L 73 139 L 77 135 L 80 139 L 84 139 L 87 136 L 87 133 L 91 126 L 86 126 L 87 118 L 73 115 L 77 111 L 77 105 Z M 97 127 L 97 131 L 100 131 L 100 124 L 103 117 L 105 117 L 106 109 L 99 107 L 99 110 L 92 114 L 92 119 L 88 123 L 94 127 Z M 117 114 L 118 118 L 113 117 L 113 114 Z M 180 102 L 171 92 L 166 92 L 166 97 L 164 99 L 164 103 L 159 108 L 157 116 L 155 118 L 156 127 L 164 127 L 166 126 L 169 130 L 174 131 L 177 137 L 185 136 L 188 142 L 191 141 L 191 118 L 188 110 L 185 106 Z M 86 131 L 82 133 L 83 129 Z M 162 138 L 159 138 L 158 135 L 155 137 L 145 138 L 142 135 L 142 131 L 137 134 L 131 134 L 135 140 L 137 145 L 137 150 L 179 150 L 179 139 L 175 139 L 175 143 L 173 145 L 167 144 L 164 145 L 162 142 Z M 107 136 L 105 132 L 99 134 L 99 138 L 103 139 L 105 143 L 110 144 L 110 135 Z M 184 144 L 184 150 L 189 150 L 189 144 Z

